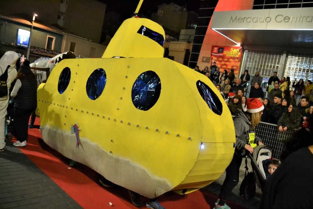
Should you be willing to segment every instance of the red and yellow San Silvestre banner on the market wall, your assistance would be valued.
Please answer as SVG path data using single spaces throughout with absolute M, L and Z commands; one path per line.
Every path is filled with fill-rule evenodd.
M 239 74 L 242 51 L 241 46 L 212 46 L 211 65 L 216 62 L 220 72 L 234 69 L 234 74 Z

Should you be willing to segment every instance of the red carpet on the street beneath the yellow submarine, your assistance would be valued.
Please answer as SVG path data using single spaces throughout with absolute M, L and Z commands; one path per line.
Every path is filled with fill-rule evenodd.
M 28 129 L 27 146 L 20 148 L 46 175 L 59 185 L 69 196 L 85 209 L 95 208 L 137 208 L 130 202 L 125 188 L 115 186 L 103 188 L 99 184 L 100 175 L 85 165 L 69 166 L 69 159 L 51 149 L 42 140 L 39 128 L 39 118 L 36 118 L 33 129 Z M 13 138 L 13 141 L 16 139 Z M 187 195 L 167 192 L 158 201 L 167 209 L 180 208 L 213 208 L 217 195 L 206 189 L 201 189 Z M 142 197 L 143 203 L 147 201 Z M 113 204 L 110 206 L 110 202 Z M 233 208 L 242 206 L 228 202 Z M 146 208 L 145 204 L 141 208 Z

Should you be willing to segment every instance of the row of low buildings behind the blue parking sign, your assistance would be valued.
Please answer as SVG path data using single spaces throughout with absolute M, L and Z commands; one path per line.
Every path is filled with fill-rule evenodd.
M 26 33 L 26 36 L 28 34 L 29 37 L 31 18 L 27 14 L 0 16 L 0 56 L 5 51 L 16 51 L 26 56 L 28 45 L 25 44 L 28 42 L 20 38 L 20 31 Z M 33 62 L 39 57 L 54 57 L 66 51 L 72 51 L 84 58 L 100 58 L 105 48 L 105 45 L 73 34 L 66 34 L 49 24 L 35 20 L 29 60 Z

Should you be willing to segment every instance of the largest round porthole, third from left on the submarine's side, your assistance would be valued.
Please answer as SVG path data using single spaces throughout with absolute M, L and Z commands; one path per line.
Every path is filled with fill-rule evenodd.
M 149 110 L 160 97 L 161 81 L 153 71 L 146 71 L 136 79 L 131 89 L 131 99 L 139 110 Z

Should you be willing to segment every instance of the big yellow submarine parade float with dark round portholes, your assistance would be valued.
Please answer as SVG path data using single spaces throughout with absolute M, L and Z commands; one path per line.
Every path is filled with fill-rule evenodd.
M 164 37 L 149 19 L 126 19 L 102 58 L 62 60 L 38 87 L 44 142 L 149 198 L 210 184 L 235 149 L 220 92 L 163 58 Z

